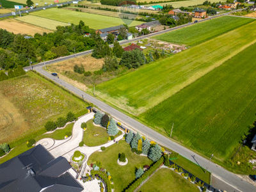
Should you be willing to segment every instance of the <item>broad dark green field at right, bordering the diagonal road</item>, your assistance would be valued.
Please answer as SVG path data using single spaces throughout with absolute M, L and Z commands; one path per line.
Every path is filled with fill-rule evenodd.
M 223 161 L 255 120 L 256 44 L 140 118 L 188 148 Z

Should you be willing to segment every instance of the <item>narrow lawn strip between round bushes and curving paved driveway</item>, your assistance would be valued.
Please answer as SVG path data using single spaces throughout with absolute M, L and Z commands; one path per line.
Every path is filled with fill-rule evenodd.
M 42 140 L 43 138 L 52 138 L 54 140 L 64 140 L 67 132 L 72 132 L 74 123 L 68 124 L 64 129 L 57 129 L 50 134 L 42 134 L 35 138 L 36 141 Z

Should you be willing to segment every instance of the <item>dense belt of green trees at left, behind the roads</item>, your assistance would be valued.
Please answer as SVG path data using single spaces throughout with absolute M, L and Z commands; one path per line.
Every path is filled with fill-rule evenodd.
M 84 36 L 90 33 L 90 37 Z M 96 42 L 103 43 L 99 34 L 80 21 L 78 25 L 58 26 L 53 33 L 36 33 L 34 38 L 15 35 L 0 29 L 0 68 L 22 67 L 32 62 L 52 60 L 74 52 L 92 49 Z

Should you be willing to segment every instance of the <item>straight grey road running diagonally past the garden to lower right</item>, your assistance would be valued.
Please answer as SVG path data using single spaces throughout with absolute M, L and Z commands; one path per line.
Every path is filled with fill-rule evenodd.
M 58 79 L 57 77 L 52 76 L 49 72 L 46 72 L 42 66 L 36 66 L 36 67 L 34 67 L 34 69 L 37 72 L 39 72 L 40 74 L 42 74 L 43 76 L 51 79 L 52 81 L 60 84 L 61 86 L 64 86 L 70 92 L 75 93 L 79 97 L 84 97 L 85 100 L 88 100 L 88 102 L 92 102 L 93 104 L 95 104 L 95 106 L 100 108 L 102 111 L 105 111 L 106 113 L 111 114 L 117 120 L 120 120 L 120 122 L 124 122 L 124 124 L 129 125 L 129 127 L 132 127 L 136 131 L 141 132 L 141 134 L 148 136 L 148 138 L 156 141 L 157 143 L 160 143 L 161 145 L 163 145 L 167 148 L 170 148 L 176 152 L 179 152 L 180 155 L 195 162 L 196 164 L 199 164 L 200 166 L 202 166 L 204 168 L 207 167 L 207 165 L 209 163 L 209 159 L 205 159 L 204 157 L 199 156 L 195 152 L 189 150 L 186 147 L 183 147 L 182 145 L 179 145 L 178 143 L 175 143 L 174 141 L 170 140 L 169 138 L 166 138 L 165 136 L 159 134 L 158 132 L 150 129 L 146 125 L 143 125 L 140 122 L 134 120 L 133 118 L 116 110 L 115 108 L 112 108 L 108 104 L 96 99 L 95 97 L 92 97 L 91 95 L 86 94 L 82 90 L 79 90 L 78 88 L 63 81 L 62 79 Z M 195 156 L 195 157 L 193 157 L 193 156 Z M 209 170 L 212 172 L 213 177 L 214 177 L 214 175 L 216 175 L 216 177 L 218 177 L 219 180 L 223 180 L 226 183 L 230 184 L 228 189 L 234 188 L 236 190 L 239 189 L 240 191 L 248 191 L 248 192 L 256 191 L 255 186 L 253 186 L 252 184 L 246 182 L 245 180 L 237 177 L 234 173 L 228 172 L 227 170 L 225 170 L 218 164 L 210 163 Z M 223 187 L 225 187 L 225 185 L 223 185 Z M 237 190 L 237 191 L 239 191 L 239 190 Z

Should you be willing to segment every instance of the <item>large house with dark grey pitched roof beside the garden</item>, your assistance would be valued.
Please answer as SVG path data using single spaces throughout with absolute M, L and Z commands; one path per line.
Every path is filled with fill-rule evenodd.
M 67 159 L 55 159 L 37 145 L 0 164 L 0 191 L 80 192 L 83 186 L 67 172 L 70 168 Z

